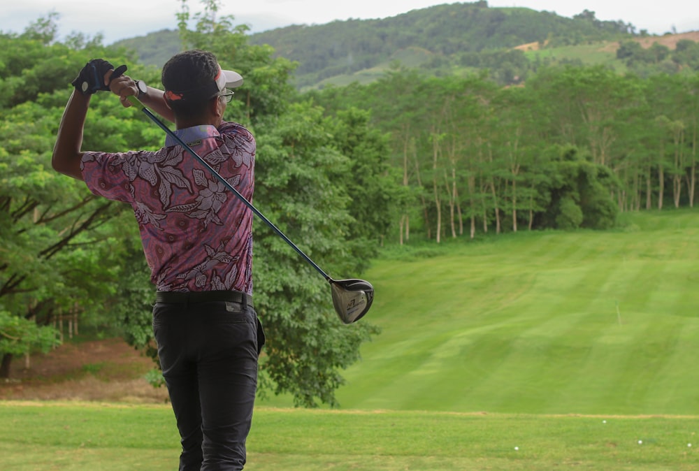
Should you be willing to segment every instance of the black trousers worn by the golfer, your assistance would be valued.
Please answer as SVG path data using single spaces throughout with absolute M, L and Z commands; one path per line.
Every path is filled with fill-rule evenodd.
M 158 302 L 153 331 L 180 430 L 180 471 L 242 470 L 264 344 L 254 309 Z

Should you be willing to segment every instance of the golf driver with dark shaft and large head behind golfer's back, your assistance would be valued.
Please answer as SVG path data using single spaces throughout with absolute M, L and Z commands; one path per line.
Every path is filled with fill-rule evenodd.
M 301 249 L 296 247 L 296 244 L 294 242 L 291 242 L 291 240 L 284 235 L 280 229 L 278 229 L 277 226 L 275 226 L 269 219 L 265 217 L 257 208 L 250 203 L 250 201 L 247 201 L 245 199 L 245 196 L 240 194 L 238 190 L 233 188 L 233 185 L 231 185 L 229 182 L 226 181 L 224 177 L 219 175 L 217 171 L 215 171 L 212 166 L 210 166 L 204 159 L 199 157 L 199 154 L 194 152 L 192 150 L 192 147 L 189 147 L 187 143 L 185 143 L 180 137 L 175 134 L 173 131 L 171 131 L 168 126 L 166 126 L 163 122 L 158 119 L 156 115 L 152 113 L 151 110 L 145 107 L 143 103 L 140 102 L 136 96 L 131 95 L 129 96 L 129 101 L 131 101 L 132 104 L 140 108 L 147 117 L 149 117 L 152 122 L 160 126 L 160 128 L 165 131 L 168 136 L 171 138 L 175 139 L 182 147 L 185 147 L 187 152 L 192 154 L 194 158 L 199 161 L 200 164 L 205 166 L 207 170 L 213 175 L 219 182 L 224 184 L 224 186 L 229 189 L 230 191 L 233 192 L 233 194 L 240 200 L 241 203 L 245 204 L 247 208 L 250 208 L 254 215 L 257 215 L 260 219 L 262 219 L 265 224 L 267 224 L 277 235 L 279 235 L 282 239 L 284 239 L 287 244 L 291 246 L 294 250 L 296 250 L 296 253 L 301 256 L 302 259 L 310 263 L 310 266 L 315 268 L 318 273 L 323 275 L 323 277 L 330 283 L 331 287 L 331 292 L 333 296 L 333 307 L 335 307 L 335 312 L 338 313 L 338 317 L 340 317 L 340 321 L 343 321 L 345 324 L 352 324 L 352 322 L 356 322 L 359 319 L 361 319 L 364 314 L 369 310 L 369 307 L 371 307 L 371 303 L 373 303 L 374 300 L 374 288 L 371 286 L 371 284 L 365 280 L 358 280 L 358 279 L 348 279 L 348 280 L 333 280 L 327 273 L 325 273 L 316 263 L 315 261 L 312 261 L 310 257 L 306 254 L 303 253 Z

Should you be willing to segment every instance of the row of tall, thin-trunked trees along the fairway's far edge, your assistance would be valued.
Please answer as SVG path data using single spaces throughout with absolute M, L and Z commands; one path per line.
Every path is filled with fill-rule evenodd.
M 394 168 L 417 195 L 394 217 L 392 240 L 405 241 L 411 221 L 438 242 L 608 229 L 618 212 L 693 207 L 697 196 L 698 73 L 551 66 L 500 87 L 485 73 L 394 71 L 305 96 L 331 112 L 368 109 L 391 139 Z

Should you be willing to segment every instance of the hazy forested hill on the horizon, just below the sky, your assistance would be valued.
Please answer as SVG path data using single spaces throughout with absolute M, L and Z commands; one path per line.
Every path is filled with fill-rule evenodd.
M 428 73 L 493 67 L 503 51 L 525 43 L 580 44 L 632 38 L 633 26 L 596 20 L 584 12 L 567 18 L 529 8 L 490 8 L 486 1 L 411 10 L 378 20 L 292 25 L 250 36 L 278 56 L 298 63 L 299 88 L 351 80 L 374 80 L 394 66 Z M 177 31 L 164 30 L 115 43 L 138 52 L 144 64 L 161 67 L 180 50 Z M 482 52 L 496 57 L 477 60 Z M 505 60 L 512 60 L 505 57 Z

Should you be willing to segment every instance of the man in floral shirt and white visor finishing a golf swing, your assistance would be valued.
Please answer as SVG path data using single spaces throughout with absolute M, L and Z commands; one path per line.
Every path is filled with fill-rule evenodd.
M 264 332 L 252 303 L 252 212 L 183 147 L 155 152 L 82 152 L 90 96 L 137 95 L 210 166 L 252 201 L 255 141 L 223 120 L 242 85 L 210 52 L 192 50 L 163 67 L 164 92 L 94 59 L 73 81 L 53 152 L 55 170 L 94 194 L 129 203 L 157 287 L 153 329 L 182 442 L 180 470 L 242 470 Z

